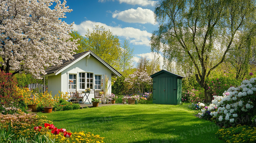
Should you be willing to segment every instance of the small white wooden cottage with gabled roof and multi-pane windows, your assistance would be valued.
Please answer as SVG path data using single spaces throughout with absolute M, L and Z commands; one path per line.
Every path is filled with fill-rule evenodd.
M 45 70 L 45 76 L 48 77 L 48 92 L 51 91 L 54 96 L 58 91 L 82 92 L 90 88 L 90 101 L 94 98 L 94 89 L 111 94 L 111 77 L 122 76 L 116 69 L 91 50 L 75 54 L 73 57 L 72 60 L 63 60 L 61 65 L 51 66 Z M 108 78 L 107 85 L 105 77 Z

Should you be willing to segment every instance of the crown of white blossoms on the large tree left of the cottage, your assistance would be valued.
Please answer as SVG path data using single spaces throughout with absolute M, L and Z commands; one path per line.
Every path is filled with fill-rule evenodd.
M 65 0 L 0 0 L 0 69 L 40 78 L 45 68 L 72 59 L 77 45 L 69 40 L 72 24 L 61 20 L 72 11 L 65 5 Z

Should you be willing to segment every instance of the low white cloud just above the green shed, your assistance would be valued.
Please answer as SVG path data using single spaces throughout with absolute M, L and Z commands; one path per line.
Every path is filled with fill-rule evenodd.
M 157 54 L 156 52 L 150 52 L 150 53 L 143 53 L 143 54 L 137 54 L 133 56 L 133 60 L 134 60 L 134 65 L 136 65 L 139 62 L 139 58 L 140 57 L 146 57 L 147 60 L 152 61 L 154 59 L 154 56 L 156 54 L 156 58 L 159 57 L 159 62 L 160 62 L 160 67 L 162 68 L 163 66 L 163 57 L 161 54 Z

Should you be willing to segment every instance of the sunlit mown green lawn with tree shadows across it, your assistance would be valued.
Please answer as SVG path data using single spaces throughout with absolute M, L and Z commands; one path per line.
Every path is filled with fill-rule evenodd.
M 99 134 L 106 143 L 224 142 L 215 137 L 218 127 L 193 116 L 187 105 L 115 105 L 38 115 L 57 128 Z

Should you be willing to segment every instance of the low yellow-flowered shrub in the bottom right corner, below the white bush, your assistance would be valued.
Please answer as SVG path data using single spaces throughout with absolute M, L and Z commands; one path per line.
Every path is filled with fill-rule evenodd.
M 223 128 L 218 130 L 216 135 L 228 143 L 255 143 L 256 142 L 256 127 L 241 126 L 237 125 L 236 127 Z

